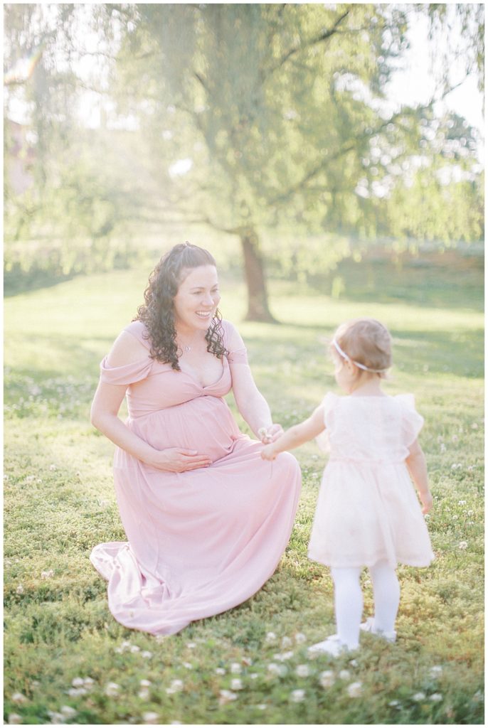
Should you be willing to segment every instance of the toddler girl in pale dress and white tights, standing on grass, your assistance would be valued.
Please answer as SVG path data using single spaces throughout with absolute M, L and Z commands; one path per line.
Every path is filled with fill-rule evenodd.
M 374 319 L 344 323 L 332 340 L 331 354 L 337 384 L 348 396 L 328 392 L 309 419 L 264 447 L 261 456 L 273 460 L 322 432 L 319 444 L 326 437 L 331 456 L 309 556 L 331 568 L 337 634 L 310 652 L 335 656 L 358 647 L 360 628 L 395 641 L 397 563 L 428 566 L 433 552 L 422 516 L 432 507 L 425 456 L 417 442 L 423 419 L 414 409 L 413 395 L 390 397 L 381 388 L 392 362 L 390 333 Z M 361 625 L 363 566 L 371 574 L 374 617 Z

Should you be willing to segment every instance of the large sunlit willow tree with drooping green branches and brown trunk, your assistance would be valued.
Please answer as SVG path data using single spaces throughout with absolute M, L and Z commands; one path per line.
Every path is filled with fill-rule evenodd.
M 429 104 L 392 110 L 386 95 L 422 13 L 434 38 L 454 17 L 441 4 L 5 4 L 7 268 L 22 266 L 9 242 L 31 258 L 44 245 L 72 274 L 127 264 L 148 223 L 205 224 L 240 240 L 248 318 L 272 320 L 266 257 L 317 272 L 345 236 L 480 240 L 479 133 L 436 106 L 449 63 Z M 481 84 L 484 7 L 454 14 Z

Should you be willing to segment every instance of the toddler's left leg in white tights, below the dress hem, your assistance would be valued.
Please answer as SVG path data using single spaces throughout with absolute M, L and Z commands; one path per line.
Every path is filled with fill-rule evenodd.
M 331 569 L 334 579 L 334 604 L 337 636 L 349 649 L 359 645 L 359 625 L 363 613 L 361 568 Z

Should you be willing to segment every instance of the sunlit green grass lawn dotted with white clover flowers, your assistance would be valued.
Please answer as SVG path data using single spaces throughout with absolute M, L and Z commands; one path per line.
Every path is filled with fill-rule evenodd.
M 482 270 L 460 258 L 404 261 L 402 269 L 345 263 L 338 274 L 345 283 L 338 299 L 331 280 L 320 284 L 323 293 L 272 282 L 282 325 L 239 328 L 275 420 L 288 426 L 335 389 L 323 338 L 338 323 L 371 315 L 390 327 L 395 370 L 387 391 L 417 397 L 435 498 L 428 525 L 436 561 L 398 569 L 397 643 L 364 636 L 354 658 L 307 660 L 307 644 L 334 630 L 328 571 L 307 559 L 324 465 L 314 443 L 296 451 L 304 483 L 294 531 L 256 596 L 169 638 L 113 620 L 88 555 L 125 536 L 113 446 L 90 426 L 89 409 L 98 363 L 141 303 L 147 271 L 80 277 L 5 304 L 7 721 L 12 713 L 23 723 L 59 721 L 65 706 L 64 720 L 75 724 L 484 722 Z M 238 323 L 243 287 L 224 280 L 222 288 L 224 316 Z M 366 572 L 363 585 L 370 610 Z M 307 666 L 300 675 L 299 665 Z M 323 677 L 326 670 L 334 675 Z M 243 689 L 227 702 L 221 690 L 232 679 Z M 347 690 L 356 682 L 359 698 Z M 117 695 L 107 695 L 109 683 Z

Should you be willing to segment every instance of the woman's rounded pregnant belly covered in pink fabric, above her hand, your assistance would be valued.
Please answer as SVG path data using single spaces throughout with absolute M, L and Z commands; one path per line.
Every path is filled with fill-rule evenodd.
M 215 462 L 243 437 L 221 397 L 196 397 L 149 415 L 128 419 L 127 427 L 157 450 L 185 448 Z

